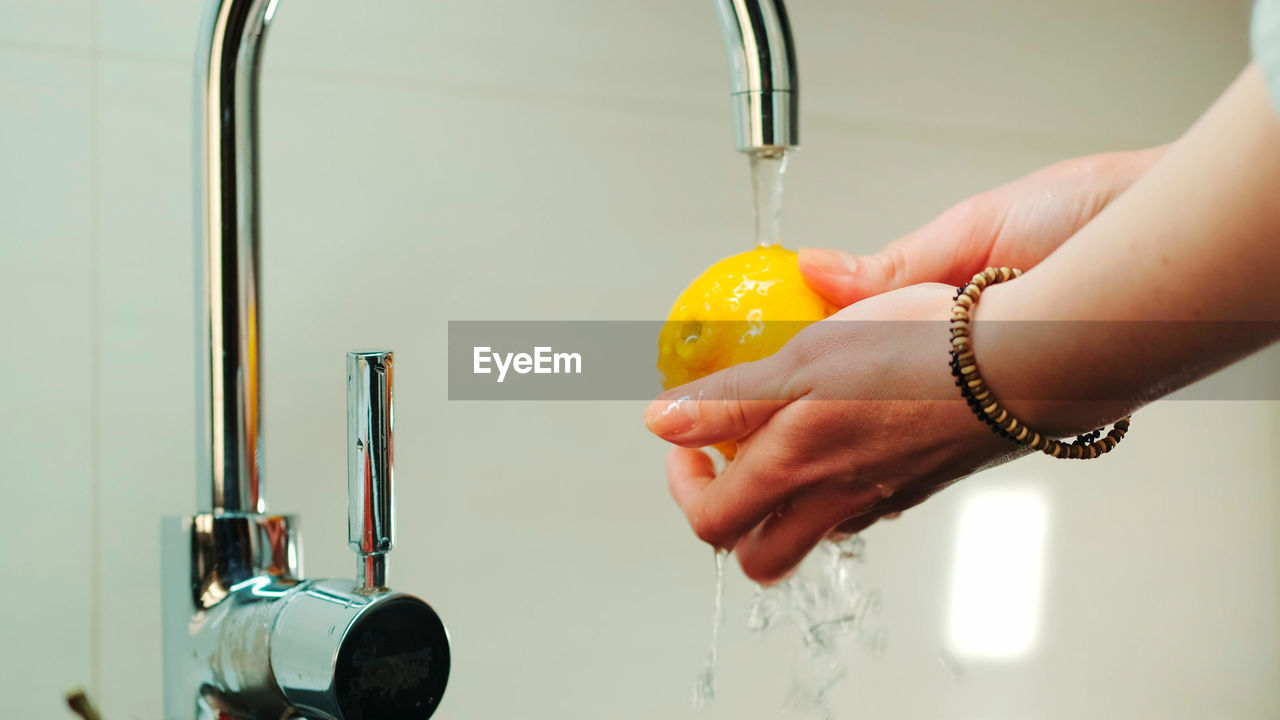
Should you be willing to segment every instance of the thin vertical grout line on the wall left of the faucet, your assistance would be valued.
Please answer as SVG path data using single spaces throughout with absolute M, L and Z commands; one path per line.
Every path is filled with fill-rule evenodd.
M 102 380 L 101 380 L 101 193 L 99 190 L 99 0 L 90 3 L 90 692 L 102 702 Z

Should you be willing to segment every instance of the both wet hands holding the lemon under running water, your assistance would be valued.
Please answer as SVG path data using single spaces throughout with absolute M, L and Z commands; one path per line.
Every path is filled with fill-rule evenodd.
M 1162 154 L 1052 165 L 965 200 L 877 255 L 801 250 L 805 279 L 844 310 L 777 354 L 672 388 L 645 411 L 648 428 L 678 446 L 667 478 L 694 533 L 772 583 L 823 538 L 860 532 L 1018 456 L 960 400 L 946 324 L 905 322 L 950 318 L 955 286 L 983 268 L 1034 266 Z M 723 441 L 739 451 L 717 475 L 699 448 Z

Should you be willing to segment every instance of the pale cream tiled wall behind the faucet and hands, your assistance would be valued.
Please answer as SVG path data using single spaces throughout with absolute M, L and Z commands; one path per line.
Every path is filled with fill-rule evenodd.
M 160 712 L 159 518 L 193 509 L 198 5 L 0 0 L 6 716 L 65 716 L 72 684 L 108 720 Z M 794 0 L 785 237 L 869 251 L 1052 160 L 1175 137 L 1245 61 L 1247 5 Z M 343 352 L 390 346 L 393 577 L 454 638 L 439 716 L 696 716 L 710 557 L 643 404 L 451 404 L 444 337 L 448 319 L 660 319 L 749 242 L 712 9 L 285 0 L 270 35 L 268 497 L 305 518 L 308 573 L 351 570 Z M 1112 457 L 1027 459 L 873 529 L 890 644 L 849 652 L 841 716 L 1276 716 L 1277 432 L 1276 404 L 1165 402 Z M 956 511 L 1006 484 L 1050 502 L 1038 642 L 954 673 Z M 707 717 L 777 715 L 786 689 L 748 597 L 735 574 Z

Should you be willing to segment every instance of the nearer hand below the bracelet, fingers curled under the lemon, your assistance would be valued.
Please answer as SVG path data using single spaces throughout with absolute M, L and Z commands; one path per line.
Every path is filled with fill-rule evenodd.
M 703 541 L 774 582 L 833 532 L 858 532 L 1016 455 L 948 368 L 955 288 L 919 284 L 805 328 L 777 354 L 673 388 L 645 413 L 681 447 L 671 493 Z M 920 322 L 931 320 L 931 322 Z M 737 441 L 716 475 L 700 447 Z

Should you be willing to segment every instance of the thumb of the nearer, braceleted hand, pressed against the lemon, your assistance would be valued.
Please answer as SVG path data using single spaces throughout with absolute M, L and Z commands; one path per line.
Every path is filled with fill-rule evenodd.
M 650 432 L 685 447 L 739 439 L 804 395 L 788 383 L 786 348 L 672 388 L 645 409 Z

